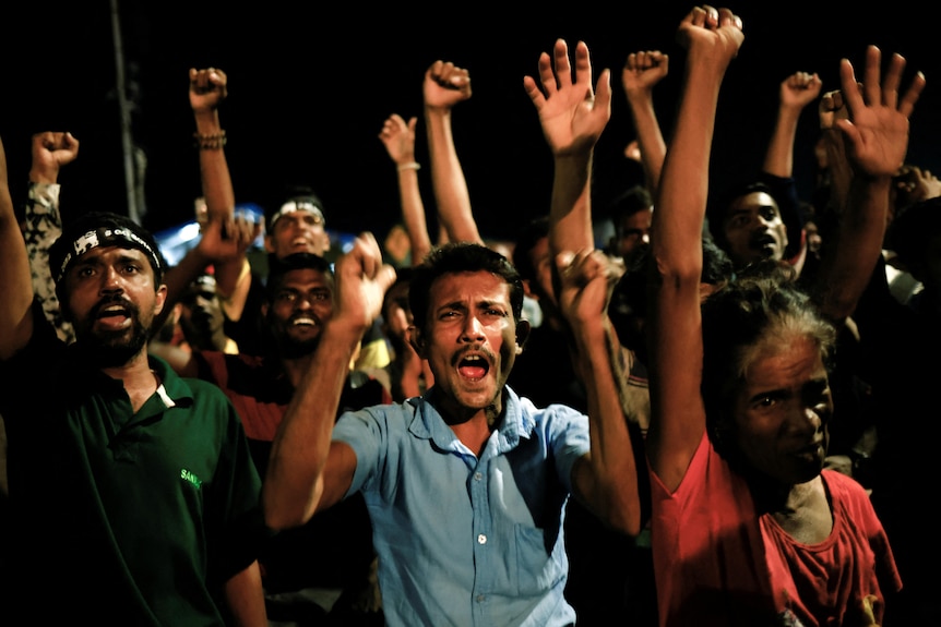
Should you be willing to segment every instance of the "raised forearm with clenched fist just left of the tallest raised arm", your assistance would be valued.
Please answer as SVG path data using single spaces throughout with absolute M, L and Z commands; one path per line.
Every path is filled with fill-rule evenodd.
M 621 70 L 621 84 L 628 97 L 641 167 L 651 195 L 656 197 L 667 145 L 654 109 L 654 86 L 669 72 L 669 56 L 659 50 L 631 52 Z

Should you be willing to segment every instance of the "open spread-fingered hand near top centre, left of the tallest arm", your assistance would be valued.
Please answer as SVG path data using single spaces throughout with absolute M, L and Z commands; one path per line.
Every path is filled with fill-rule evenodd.
M 611 118 L 611 73 L 603 70 L 592 88 L 592 61 L 584 41 L 575 45 L 574 81 L 564 40 L 556 41 L 553 58 L 555 69 L 547 52 L 539 56 L 541 91 L 532 76 L 523 79 L 523 87 L 539 113 L 553 155 L 589 149 Z

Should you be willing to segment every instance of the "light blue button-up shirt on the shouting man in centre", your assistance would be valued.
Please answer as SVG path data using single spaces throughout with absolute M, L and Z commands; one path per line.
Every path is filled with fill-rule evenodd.
M 386 624 L 573 624 L 562 520 L 587 417 L 536 409 L 508 387 L 477 459 L 431 394 L 345 413 L 334 429 L 356 453 L 348 494 L 369 507 Z

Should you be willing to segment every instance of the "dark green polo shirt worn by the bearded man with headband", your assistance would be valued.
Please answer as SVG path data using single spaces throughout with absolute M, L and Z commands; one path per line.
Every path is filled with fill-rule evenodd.
M 163 385 L 133 413 L 122 383 L 50 330 L 37 318 L 0 365 L 23 616 L 223 625 L 222 584 L 267 536 L 238 414 L 156 358 Z

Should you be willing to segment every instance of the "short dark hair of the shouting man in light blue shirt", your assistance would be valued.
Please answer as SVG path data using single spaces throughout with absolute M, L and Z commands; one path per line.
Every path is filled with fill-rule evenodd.
M 433 249 L 420 265 L 415 266 L 408 289 L 408 306 L 415 326 L 425 329 L 428 322 L 431 286 L 444 275 L 488 272 L 510 286 L 510 306 L 519 322 L 523 316 L 523 279 L 507 257 L 483 244 L 449 242 Z

